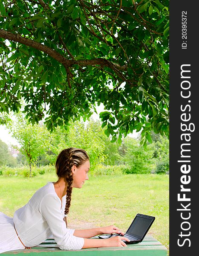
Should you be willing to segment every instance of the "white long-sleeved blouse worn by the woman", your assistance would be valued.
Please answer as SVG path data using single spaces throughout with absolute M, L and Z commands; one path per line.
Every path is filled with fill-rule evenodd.
M 52 182 L 35 192 L 29 202 L 14 212 L 14 226 L 26 247 L 36 246 L 53 236 L 61 250 L 80 250 L 84 239 L 73 236 L 63 221 L 66 196 L 61 200 Z

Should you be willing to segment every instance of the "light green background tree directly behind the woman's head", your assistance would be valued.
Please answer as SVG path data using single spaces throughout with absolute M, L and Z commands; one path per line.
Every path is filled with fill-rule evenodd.
M 103 162 L 105 157 L 105 143 L 102 134 L 99 122 L 92 119 L 87 123 L 83 121 L 70 123 L 67 131 L 58 127 L 51 134 L 46 158 L 54 164 L 63 148 L 83 148 L 89 154 L 91 168 L 94 169 L 95 165 Z M 103 135 L 106 137 L 105 134 Z

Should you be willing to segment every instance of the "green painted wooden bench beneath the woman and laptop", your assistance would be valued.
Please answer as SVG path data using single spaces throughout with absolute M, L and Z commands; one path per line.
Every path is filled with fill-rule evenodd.
M 97 236 L 95 237 L 97 238 Z M 47 239 L 45 242 L 32 247 L 31 249 L 13 250 L 1 253 L 1 256 L 167 256 L 167 248 L 152 236 L 146 236 L 141 243 L 129 244 L 127 247 L 100 247 L 81 250 L 60 250 L 54 239 Z

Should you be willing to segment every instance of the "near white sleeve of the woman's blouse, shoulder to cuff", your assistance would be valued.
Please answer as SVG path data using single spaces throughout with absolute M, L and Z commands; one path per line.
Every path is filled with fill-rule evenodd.
M 61 213 L 61 201 L 53 193 L 46 194 L 40 203 L 40 212 L 46 219 L 52 236 L 61 250 L 80 250 L 84 239 L 73 236 L 74 230 L 68 230 Z

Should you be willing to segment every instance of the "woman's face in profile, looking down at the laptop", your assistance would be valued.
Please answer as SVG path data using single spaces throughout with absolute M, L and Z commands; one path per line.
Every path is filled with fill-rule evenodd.
M 76 166 L 72 167 L 72 173 L 73 173 L 73 188 L 81 189 L 82 185 L 86 180 L 89 179 L 88 172 L 90 169 L 90 162 L 87 160 L 85 163 L 83 163 L 78 168 Z

